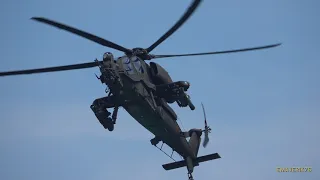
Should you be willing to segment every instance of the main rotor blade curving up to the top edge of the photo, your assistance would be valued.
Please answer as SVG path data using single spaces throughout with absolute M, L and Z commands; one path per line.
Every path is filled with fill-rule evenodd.
M 161 44 L 164 40 L 166 40 L 169 36 L 171 36 L 175 31 L 177 31 L 193 14 L 193 12 L 197 9 L 200 2 L 202 0 L 194 0 L 188 10 L 183 14 L 183 16 L 176 22 L 174 26 L 171 27 L 163 36 L 161 36 L 155 43 L 153 43 L 146 50 L 147 52 L 151 52 L 154 48 L 156 48 L 159 44 Z

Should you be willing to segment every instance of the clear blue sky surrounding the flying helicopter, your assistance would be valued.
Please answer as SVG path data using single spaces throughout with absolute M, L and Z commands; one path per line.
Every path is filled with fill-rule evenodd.
M 2 0 L 0 71 L 90 62 L 111 50 L 31 21 L 51 18 L 128 48 L 148 47 L 188 1 Z M 200 154 L 221 159 L 195 169 L 197 180 L 316 180 L 320 177 L 320 26 L 317 0 L 204 0 L 153 53 L 193 53 L 282 42 L 239 54 L 161 59 L 174 80 L 188 80 L 197 109 L 172 107 L 183 128 L 212 127 Z M 89 106 L 104 96 L 98 69 L 0 78 L 0 179 L 187 179 L 124 110 L 110 133 Z M 169 151 L 169 148 L 166 148 Z M 169 151 L 170 152 L 170 151 Z M 313 167 L 277 173 L 276 167 Z

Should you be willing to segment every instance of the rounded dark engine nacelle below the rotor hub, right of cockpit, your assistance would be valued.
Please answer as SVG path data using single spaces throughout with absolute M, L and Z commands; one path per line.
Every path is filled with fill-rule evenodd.
M 170 84 L 173 82 L 169 73 L 159 64 L 150 62 L 150 69 L 152 81 L 155 85 Z

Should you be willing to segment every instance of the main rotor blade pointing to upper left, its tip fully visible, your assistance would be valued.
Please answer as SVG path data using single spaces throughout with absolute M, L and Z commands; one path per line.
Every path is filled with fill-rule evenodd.
M 71 32 L 73 34 L 76 34 L 78 36 L 86 38 L 88 40 L 94 41 L 94 42 L 96 42 L 98 44 L 101 44 L 103 46 L 106 46 L 106 47 L 109 47 L 109 48 L 113 48 L 113 49 L 122 51 L 124 53 L 131 53 L 131 50 L 129 50 L 127 48 L 124 48 L 124 47 L 122 47 L 122 46 L 120 46 L 118 44 L 115 44 L 115 43 L 113 43 L 111 41 L 105 40 L 105 39 L 103 39 L 101 37 L 98 37 L 98 36 L 95 36 L 93 34 L 90 34 L 90 33 L 84 32 L 82 30 L 73 28 L 71 26 L 67 26 L 67 25 L 61 24 L 59 22 L 55 22 L 55 21 L 52 21 L 50 19 L 46 19 L 46 18 L 42 18 L 42 17 L 32 17 L 31 19 L 33 19 L 35 21 L 38 21 L 38 22 L 42 22 L 42 23 L 48 24 L 48 25 L 51 25 L 51 26 L 54 26 L 56 28 L 60 28 L 60 29 L 66 30 L 68 32 Z

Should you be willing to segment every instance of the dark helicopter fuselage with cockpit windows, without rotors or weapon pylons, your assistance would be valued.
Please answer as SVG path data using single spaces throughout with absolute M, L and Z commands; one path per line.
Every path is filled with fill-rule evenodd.
M 181 136 L 181 129 L 176 122 L 177 115 L 166 100 L 159 97 L 157 85 L 152 82 L 149 65 L 135 56 L 123 56 L 117 61 L 104 62 L 100 67 L 100 79 L 103 79 L 106 73 L 106 69 L 103 70 L 105 67 L 109 67 L 107 71 L 114 71 L 115 74 L 113 81 L 105 82 L 114 96 L 114 102 L 110 103 L 109 108 L 118 103 L 138 123 L 154 134 L 158 142 L 166 143 L 182 157 L 196 158 L 196 153 L 186 138 Z M 177 85 L 184 83 L 179 82 Z

